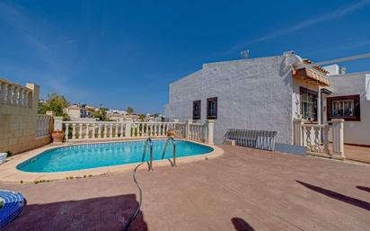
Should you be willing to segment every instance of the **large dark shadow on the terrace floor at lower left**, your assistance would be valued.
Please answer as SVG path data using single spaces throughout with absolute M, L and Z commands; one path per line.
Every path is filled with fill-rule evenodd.
M 123 230 L 136 209 L 135 194 L 27 205 L 4 230 Z M 129 230 L 148 230 L 141 211 Z

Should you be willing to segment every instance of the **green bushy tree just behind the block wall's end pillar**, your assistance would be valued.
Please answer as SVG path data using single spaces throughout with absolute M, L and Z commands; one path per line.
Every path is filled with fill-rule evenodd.
M 66 116 L 63 111 L 69 106 L 69 102 L 66 101 L 65 96 L 58 95 L 57 93 L 48 94 L 48 100 L 46 102 L 39 102 L 39 114 L 45 114 L 46 111 L 54 111 L 57 116 Z

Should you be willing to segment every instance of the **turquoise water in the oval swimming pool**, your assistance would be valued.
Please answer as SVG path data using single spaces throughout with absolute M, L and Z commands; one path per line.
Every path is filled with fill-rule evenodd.
M 166 140 L 153 141 L 154 160 L 160 160 Z M 31 173 L 55 173 L 118 164 L 139 163 L 143 157 L 145 141 L 89 144 L 57 147 L 18 164 L 17 169 Z M 172 158 L 172 142 L 169 142 L 165 158 Z M 176 140 L 176 156 L 202 155 L 213 151 L 212 147 L 193 142 Z M 149 160 L 149 149 L 145 160 Z

